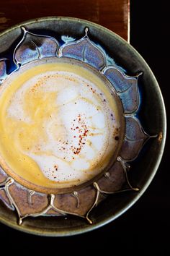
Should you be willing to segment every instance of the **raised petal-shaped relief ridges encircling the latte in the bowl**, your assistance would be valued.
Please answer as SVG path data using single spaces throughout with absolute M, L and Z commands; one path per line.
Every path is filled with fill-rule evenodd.
M 140 101 L 139 101 L 139 92 L 138 92 L 138 77 L 140 76 L 140 74 L 142 74 L 142 72 L 140 72 L 139 74 L 137 74 L 136 76 L 134 77 L 130 77 L 128 76 L 127 74 L 123 73 L 122 70 L 118 69 L 118 67 L 114 66 L 114 65 L 109 65 L 109 66 L 106 66 L 106 56 L 104 55 L 104 52 L 93 42 L 90 40 L 89 38 L 89 35 L 88 35 L 88 27 L 85 28 L 85 35 L 83 38 L 79 39 L 79 40 L 75 40 L 75 41 L 72 41 L 72 42 L 69 42 L 69 43 L 65 43 L 63 44 L 63 46 L 60 46 L 59 43 L 58 43 L 58 40 L 56 40 L 55 38 L 53 37 L 50 37 L 48 35 L 37 35 L 37 34 L 34 34 L 34 33 L 31 33 L 29 32 L 28 30 L 26 30 L 25 27 L 21 27 L 22 28 L 22 31 L 23 31 L 23 37 L 22 37 L 22 40 L 19 41 L 19 43 L 17 44 L 17 46 L 15 47 L 14 49 L 14 53 L 13 53 L 13 61 L 14 61 L 14 64 L 17 65 L 17 69 L 20 68 L 20 66 L 24 65 L 24 63 L 21 63 L 20 61 L 18 61 L 16 55 L 17 55 L 17 50 L 20 46 L 22 46 L 22 43 L 24 43 L 24 40 L 26 40 L 27 38 L 27 35 L 32 35 L 32 36 L 35 36 L 37 38 L 48 38 L 48 39 L 51 39 L 53 40 L 55 43 L 56 43 L 56 51 L 55 51 L 55 57 L 62 57 L 63 56 L 63 49 L 68 46 L 77 46 L 79 43 L 81 43 L 83 40 L 86 40 L 87 43 L 89 43 L 89 45 L 93 48 L 96 49 L 96 51 L 99 52 L 99 54 L 102 56 L 102 64 L 99 66 L 99 67 L 96 67 L 99 72 L 101 72 L 105 77 L 107 77 L 106 73 L 108 70 L 116 70 L 119 74 L 120 74 L 120 77 L 122 76 L 122 80 L 126 80 L 126 81 L 130 81 L 132 80 L 133 82 L 135 82 L 134 84 L 126 84 L 125 83 L 125 88 L 123 88 L 122 90 L 120 90 L 119 86 L 114 86 L 114 82 L 110 81 L 107 77 L 107 79 L 109 80 L 109 82 L 111 82 L 111 84 L 113 85 L 113 87 L 115 88 L 115 90 L 117 91 L 117 95 L 120 96 L 120 98 L 125 95 L 125 93 L 128 92 L 128 90 L 130 90 L 130 88 L 132 87 L 135 87 L 135 90 L 136 90 L 136 98 L 137 98 L 137 106 L 135 106 L 135 108 L 132 110 L 132 111 L 126 111 L 126 105 L 123 104 L 124 106 L 124 109 L 125 109 L 125 118 L 126 119 L 133 119 L 133 121 L 136 121 L 136 124 L 138 124 L 138 129 L 140 129 L 140 133 L 141 133 L 141 137 L 140 138 L 130 138 L 130 136 L 128 135 L 128 132 L 125 134 L 125 140 L 129 140 L 130 142 L 134 142 L 134 141 L 138 141 L 138 140 L 143 140 L 143 145 L 144 143 L 151 137 L 157 137 L 157 135 L 153 135 L 153 136 L 149 136 L 143 129 L 143 127 L 141 126 L 140 124 L 140 121 L 133 115 L 130 115 L 130 114 L 133 114 L 135 113 L 135 111 L 137 111 L 138 109 L 138 106 L 140 105 Z M 32 43 L 32 45 L 35 47 L 36 51 L 37 51 L 37 57 L 35 59 L 41 59 L 42 57 L 45 58 L 47 56 L 41 56 L 41 51 L 40 51 L 40 48 L 39 46 L 37 46 L 37 44 L 34 42 L 34 41 L 30 41 Z M 57 54 L 57 51 L 58 51 L 58 54 Z M 86 57 L 85 57 L 85 50 L 82 51 L 82 61 L 86 62 Z M 0 62 L 1 61 L 6 61 L 6 59 L 0 59 Z M 32 59 L 31 59 L 32 61 Z M 27 63 L 27 62 L 26 62 Z M 88 63 L 88 62 L 87 62 Z M 92 67 L 95 67 L 93 66 L 93 63 L 88 63 L 90 64 Z M 6 69 L 5 69 L 5 72 L 6 72 Z M 7 76 L 7 74 L 6 74 Z M 121 80 L 121 79 L 120 79 Z M 120 82 L 121 84 L 121 82 Z M 143 135 L 143 136 L 142 136 Z M 143 145 L 141 146 L 141 148 L 143 147 Z M 140 150 L 141 150 L 140 148 Z M 140 152 L 140 150 L 138 150 L 138 153 Z M 14 198 L 12 197 L 10 191 L 9 191 L 9 187 L 15 182 L 14 179 L 12 179 L 11 177 L 7 177 L 6 180 L 4 180 L 3 182 L 0 183 L 0 190 L 3 190 L 6 192 L 6 195 L 7 197 L 9 198 L 9 202 L 11 203 L 11 207 L 13 210 L 16 210 L 17 211 L 17 214 L 19 216 L 19 225 L 22 224 L 22 220 L 24 218 L 27 218 L 29 216 L 32 216 L 32 217 L 37 217 L 37 216 L 46 216 L 46 213 L 48 213 L 48 210 L 54 210 L 56 213 L 61 213 L 61 215 L 63 216 L 66 216 L 66 215 L 73 215 L 73 216 L 79 216 L 81 218 L 86 218 L 86 220 L 89 222 L 89 223 L 92 223 L 91 219 L 89 218 L 89 214 L 91 213 L 91 210 L 97 205 L 97 202 L 99 200 L 99 194 L 105 194 L 105 195 L 109 195 L 109 194 L 117 194 L 119 192 L 125 192 L 125 191 L 130 191 L 130 190 L 134 190 L 134 191 L 138 191 L 138 188 L 134 188 L 129 180 L 128 180 L 128 169 L 130 168 L 128 162 L 130 161 L 133 161 L 135 160 L 135 158 L 138 157 L 138 153 L 136 153 L 135 157 L 132 158 L 132 159 L 124 159 L 122 158 L 121 154 L 120 156 L 117 157 L 117 162 L 120 162 L 121 165 L 122 165 L 122 169 L 123 171 L 125 171 L 125 177 L 126 177 L 126 181 L 128 182 L 128 185 L 129 185 L 129 189 L 120 189 L 120 190 L 117 190 L 117 191 L 114 191 L 114 192 L 111 192 L 111 191 L 105 191 L 105 190 L 102 190 L 100 187 L 99 187 L 99 184 L 97 182 L 94 182 L 93 183 L 93 187 L 94 189 L 96 189 L 96 196 L 94 198 L 94 202 L 92 203 L 91 207 L 89 208 L 89 210 L 87 210 L 86 214 L 84 216 L 81 216 L 77 213 L 72 213 L 72 212 L 68 212 L 66 210 L 62 210 L 61 208 L 57 208 L 55 205 L 54 205 L 54 200 L 55 200 L 55 195 L 53 194 L 50 194 L 50 199 L 49 199 L 49 202 L 48 202 L 48 205 L 45 209 L 43 209 L 42 211 L 40 211 L 39 213 L 30 213 L 30 214 L 26 214 L 24 216 L 22 216 L 22 214 L 20 213 L 20 210 L 16 204 L 16 202 L 14 201 Z M 105 174 L 104 174 L 104 177 L 106 179 L 109 179 L 109 171 L 107 171 Z M 110 180 L 110 182 L 112 182 Z M 15 182 L 17 183 L 17 182 Z M 34 191 L 28 191 L 28 197 L 31 198 L 32 195 L 34 195 Z M 79 194 L 75 191 L 73 191 L 73 193 L 71 194 L 73 195 L 76 200 L 77 200 L 77 205 L 79 205 Z M 31 199 L 29 199 L 31 200 Z M 31 201 L 30 201 L 31 202 Z

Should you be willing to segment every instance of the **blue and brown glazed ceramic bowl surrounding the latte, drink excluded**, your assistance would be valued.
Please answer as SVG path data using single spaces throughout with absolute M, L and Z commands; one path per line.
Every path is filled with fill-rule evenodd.
M 7 30 L 0 35 L 0 52 L 2 85 L 9 73 L 37 59 L 55 56 L 90 64 L 115 88 L 125 115 L 125 137 L 114 165 L 97 181 L 93 180 L 86 188 L 80 189 L 79 193 L 74 189 L 72 194 L 63 195 L 34 192 L 22 187 L 1 170 L 0 196 L 13 211 L 0 202 L 0 220 L 28 233 L 68 236 L 96 229 L 128 210 L 153 179 L 166 139 L 164 101 L 156 79 L 142 57 L 125 40 L 104 27 L 67 17 L 32 20 Z M 140 154 L 145 142 L 152 137 L 148 134 L 156 136 L 149 144 L 146 143 L 145 150 Z M 127 171 L 129 163 L 134 160 L 129 182 Z M 125 181 L 126 187 L 123 188 Z M 140 191 L 136 192 L 138 189 L 134 186 Z M 125 192 L 127 190 L 130 192 Z M 124 193 L 117 193 L 120 191 Z M 107 197 L 94 208 L 103 200 L 103 195 L 115 192 L 117 195 Z M 57 217 L 26 218 L 22 226 L 18 226 L 14 209 L 18 213 L 19 224 L 29 216 Z M 70 216 L 71 213 L 73 216 Z M 85 217 L 92 225 L 76 216 Z

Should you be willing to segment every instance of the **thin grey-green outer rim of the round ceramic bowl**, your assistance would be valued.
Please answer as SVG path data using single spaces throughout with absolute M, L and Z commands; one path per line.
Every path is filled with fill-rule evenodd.
M 37 18 L 37 19 L 25 20 L 24 22 L 19 22 L 17 25 L 14 25 L 14 26 L 10 27 L 9 29 L 4 30 L 2 33 L 0 33 L 0 40 L 1 40 L 2 35 L 10 33 L 12 30 L 15 30 L 15 29 L 17 29 L 17 28 L 19 28 L 23 25 L 30 25 L 32 23 L 39 23 L 39 22 L 43 22 L 43 21 L 48 22 L 48 21 L 51 21 L 51 20 L 65 20 L 65 21 L 70 20 L 70 21 L 74 21 L 74 22 L 76 21 L 76 22 L 79 22 L 79 23 L 84 22 L 87 26 L 92 25 L 93 27 L 97 27 L 101 31 L 106 32 L 111 37 L 114 36 L 123 45 L 125 45 L 127 50 L 133 51 L 133 54 L 135 54 L 137 59 L 140 59 L 140 61 L 143 62 L 143 65 L 146 67 L 148 72 L 151 74 L 151 79 L 152 79 L 153 85 L 154 85 L 155 88 L 157 88 L 158 94 L 160 95 L 161 114 L 162 114 L 162 120 L 163 120 L 162 121 L 162 124 L 163 124 L 162 132 L 164 133 L 164 136 L 161 140 L 161 147 L 159 149 L 158 158 L 156 158 L 156 160 L 153 163 L 153 170 L 152 170 L 149 178 L 147 179 L 147 181 L 143 185 L 143 187 L 138 192 L 138 194 L 136 194 L 135 197 L 133 198 L 133 200 L 128 202 L 127 205 L 125 205 L 123 208 L 121 208 L 121 210 L 119 210 L 118 213 L 115 216 L 109 216 L 107 218 L 104 218 L 104 220 L 99 221 L 99 223 L 94 223 L 92 226 L 87 226 L 84 229 L 79 229 L 79 230 L 75 229 L 73 231 L 70 231 L 70 230 L 68 230 L 68 231 L 37 231 L 37 230 L 32 229 L 32 228 L 29 229 L 29 228 L 24 227 L 24 226 L 18 226 L 17 223 L 14 224 L 14 223 L 12 223 L 10 221 L 7 221 L 6 219 L 4 219 L 0 216 L 1 223 L 5 224 L 6 226 L 12 227 L 12 228 L 14 228 L 18 231 L 23 231 L 27 234 L 35 234 L 35 235 L 39 235 L 39 236 L 73 236 L 73 235 L 78 235 L 78 234 L 84 234 L 88 231 L 93 231 L 95 229 L 98 229 L 98 228 L 114 221 L 116 218 L 122 216 L 122 214 L 125 213 L 126 210 L 128 210 L 130 207 L 132 207 L 135 204 L 135 202 L 137 202 L 139 200 L 139 198 L 143 195 L 143 193 L 146 191 L 148 186 L 151 184 L 151 182 L 153 180 L 153 177 L 156 174 L 156 171 L 158 170 L 158 166 L 161 163 L 161 158 L 162 158 L 162 155 L 164 153 L 164 147 L 165 147 L 165 143 L 166 143 L 166 108 L 165 108 L 165 104 L 164 104 L 164 98 L 163 98 L 163 95 L 161 93 L 161 89 L 159 88 L 156 77 L 154 76 L 151 68 L 148 66 L 148 64 L 143 59 L 143 57 L 140 56 L 138 51 L 136 51 L 135 48 L 133 48 L 133 46 L 130 45 L 130 43 L 128 43 L 125 39 L 121 38 L 120 35 L 117 35 L 113 31 L 107 29 L 106 27 L 103 27 L 102 25 L 98 25 L 97 23 L 90 22 L 88 20 L 79 19 L 79 18 L 76 18 L 76 17 L 63 17 L 63 16 L 40 17 L 40 18 Z

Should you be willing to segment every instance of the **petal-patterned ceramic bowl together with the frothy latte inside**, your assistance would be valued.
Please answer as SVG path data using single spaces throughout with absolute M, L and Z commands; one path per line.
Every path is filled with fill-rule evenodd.
M 0 43 L 0 221 L 67 236 L 115 220 L 164 151 L 151 69 L 115 33 L 75 18 L 27 21 Z

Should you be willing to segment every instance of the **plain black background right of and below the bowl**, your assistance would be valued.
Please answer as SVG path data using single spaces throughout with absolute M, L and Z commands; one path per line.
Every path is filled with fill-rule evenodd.
M 118 1 L 118 0 L 117 0 Z M 107 1 L 106 1 L 107 4 Z M 165 1 L 130 1 L 130 43 L 148 62 L 158 80 L 169 116 L 169 8 Z M 0 224 L 0 249 L 40 255 L 167 255 L 170 253 L 168 145 L 145 194 L 127 213 L 106 226 L 79 236 L 50 238 L 23 234 Z M 2 252 L 0 250 L 0 255 Z M 43 255 L 43 253 L 42 253 Z

